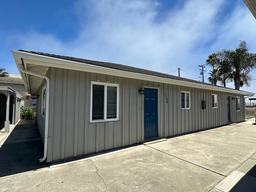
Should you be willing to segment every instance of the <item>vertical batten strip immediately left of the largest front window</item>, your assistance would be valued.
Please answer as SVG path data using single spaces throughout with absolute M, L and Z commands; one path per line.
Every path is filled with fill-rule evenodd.
M 88 122 L 89 122 L 89 95 L 90 95 L 90 88 L 89 88 L 89 76 L 90 73 L 86 72 L 85 79 L 85 125 L 84 125 L 84 154 L 87 154 L 88 150 Z

